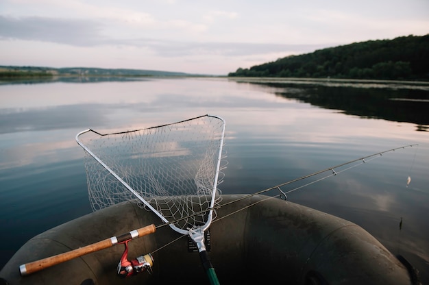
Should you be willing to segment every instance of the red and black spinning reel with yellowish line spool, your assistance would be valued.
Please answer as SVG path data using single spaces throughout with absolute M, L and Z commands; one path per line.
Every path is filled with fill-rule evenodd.
M 138 256 L 134 260 L 128 260 L 128 242 L 130 240 L 125 240 L 125 242 L 123 242 L 125 245 L 125 251 L 123 251 L 121 260 L 118 264 L 118 275 L 125 278 L 143 271 L 152 273 L 154 258 L 152 258 L 150 253 L 147 253 L 144 256 Z

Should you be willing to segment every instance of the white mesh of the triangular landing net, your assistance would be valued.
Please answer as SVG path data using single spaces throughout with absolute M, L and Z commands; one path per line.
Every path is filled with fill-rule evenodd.
M 225 123 L 215 116 L 114 134 L 91 131 L 81 143 L 169 221 L 216 206 L 223 178 L 219 158 Z M 78 141 L 79 141 L 78 140 Z M 85 150 L 88 195 L 94 211 L 136 199 Z M 214 205 L 211 205 L 212 196 Z M 181 229 L 204 225 L 208 212 L 175 223 Z

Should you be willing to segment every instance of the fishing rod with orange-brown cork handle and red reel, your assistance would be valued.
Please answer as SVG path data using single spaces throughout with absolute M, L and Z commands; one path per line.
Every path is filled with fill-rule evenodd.
M 112 247 L 112 246 L 118 245 L 118 244 L 125 244 L 125 251 L 124 251 L 123 256 L 121 258 L 121 262 L 119 262 L 118 274 L 121 275 L 121 276 L 124 276 L 124 277 L 130 276 L 130 275 L 134 275 L 134 274 L 136 274 L 138 272 L 145 271 L 145 269 L 150 269 L 151 266 L 152 266 L 152 264 L 153 264 L 153 259 L 152 259 L 150 253 L 148 253 L 145 256 L 139 256 L 138 258 L 136 258 L 136 260 L 132 260 L 132 261 L 127 260 L 127 243 L 130 240 L 134 239 L 134 238 L 139 238 L 139 237 L 142 237 L 142 236 L 146 236 L 147 234 L 152 234 L 152 233 L 156 232 L 156 230 L 159 229 L 159 228 L 161 228 L 161 227 L 165 227 L 167 225 L 170 225 L 170 224 L 173 224 L 173 223 L 177 223 L 179 221 L 183 221 L 183 220 L 189 219 L 189 218 L 191 218 L 193 216 L 197 216 L 199 214 L 204 214 L 205 212 L 208 212 L 210 210 L 217 210 L 217 209 L 222 208 L 224 206 L 228 206 L 228 205 L 230 205 L 232 203 L 236 203 L 238 201 L 242 201 L 244 199 L 248 199 L 248 198 L 256 196 L 256 195 L 267 193 L 267 192 L 269 192 L 270 190 L 273 190 L 273 189 L 280 190 L 280 192 L 281 192 L 280 195 L 284 195 L 284 197 L 286 198 L 286 194 L 287 193 L 291 193 L 292 191 L 295 191 L 295 190 L 297 190 L 299 188 L 302 188 L 304 186 L 300 186 L 298 188 L 289 190 L 286 193 L 284 193 L 280 189 L 282 186 L 286 186 L 288 184 L 292 184 L 294 182 L 298 182 L 300 180 L 307 179 L 309 177 L 312 177 L 312 176 L 315 176 L 315 175 L 318 175 L 318 174 L 321 174 L 321 173 L 324 173 L 324 172 L 327 172 L 327 171 L 332 171 L 332 174 L 329 175 L 329 176 L 336 175 L 339 172 L 336 172 L 335 169 L 338 169 L 341 166 L 345 166 L 347 164 L 352 164 L 352 163 L 358 162 L 358 161 L 360 161 L 361 164 L 363 164 L 363 163 L 368 162 L 369 158 L 373 159 L 373 158 L 382 156 L 384 153 L 389 153 L 389 152 L 395 151 L 397 149 L 405 149 L 406 147 L 414 147 L 414 146 L 417 146 L 417 145 L 418 144 L 404 145 L 402 147 L 396 147 L 394 149 L 389 149 L 387 151 L 380 151 L 378 153 L 373 153 L 373 154 L 371 154 L 369 156 L 364 156 L 362 158 L 357 158 L 355 160 L 350 160 L 348 162 L 344 162 L 344 163 L 338 164 L 336 166 L 328 167 L 327 169 L 323 169 L 321 171 L 316 171 L 314 173 L 310 173 L 308 175 L 304 175 L 302 177 L 298 177 L 296 179 L 292 179 L 292 180 L 290 180 L 288 182 L 284 182 L 282 184 L 278 184 L 276 186 L 267 188 L 265 190 L 260 190 L 260 191 L 258 191 L 256 193 L 245 195 L 243 197 L 240 197 L 240 198 L 235 199 L 233 201 L 230 201 L 228 203 L 224 203 L 224 204 L 218 205 L 218 206 L 213 206 L 211 208 L 207 208 L 206 210 L 201 210 L 199 212 L 194 212 L 193 214 L 190 214 L 188 216 L 184 216 L 184 217 L 182 217 L 180 219 L 176 219 L 175 221 L 169 221 L 168 223 L 162 223 L 160 225 L 154 225 L 154 224 L 147 225 L 145 227 L 141 227 L 140 229 L 132 230 L 131 232 L 127 232 L 127 233 L 121 234 L 119 236 L 112 236 L 111 238 L 107 238 L 106 240 L 101 240 L 101 241 L 99 241 L 97 243 L 93 243 L 91 245 L 87 245 L 86 247 L 80 247 L 78 249 L 67 251 L 65 253 L 60 253 L 60 254 L 58 254 L 56 256 L 51 256 L 49 258 L 44 258 L 42 260 L 36 260 L 34 262 L 29 262 L 27 264 L 22 264 L 19 267 L 19 270 L 20 270 L 21 275 L 25 276 L 25 275 L 29 275 L 31 273 L 35 273 L 37 271 L 40 271 L 42 269 L 46 269 L 48 267 L 52 267 L 53 265 L 60 264 L 62 262 L 66 262 L 66 261 L 72 260 L 74 258 L 78 258 L 79 256 L 84 256 L 84 255 L 86 255 L 88 253 L 99 251 L 101 249 L 106 249 L 108 247 Z M 358 164 L 358 165 L 360 165 L 360 164 Z M 319 180 L 317 180 L 317 181 L 319 181 Z M 310 183 L 314 183 L 314 182 L 310 182 Z M 306 185 L 308 185 L 308 184 L 306 184 Z M 273 198 L 273 197 L 269 197 L 267 199 L 271 199 L 271 198 Z M 265 201 L 265 199 L 262 200 L 262 201 Z M 256 203 L 254 203 L 254 204 L 252 204 L 250 206 L 254 206 L 255 204 Z M 248 208 L 248 207 L 249 206 L 246 206 L 245 208 Z M 230 214 L 234 214 L 234 213 L 236 213 L 236 212 L 238 212 L 240 210 L 244 210 L 245 208 L 236 210 L 235 212 L 232 212 Z M 228 214 L 227 216 L 230 216 L 230 214 Z M 224 217 L 221 217 L 220 219 L 223 219 L 223 218 Z M 185 236 L 185 235 L 183 235 L 183 236 Z M 179 238 L 182 238 L 183 236 L 180 236 Z M 177 238 L 177 239 L 179 239 L 179 238 Z M 175 239 L 175 240 L 177 240 L 177 239 Z M 171 243 L 175 242 L 175 240 L 171 241 Z M 169 245 L 171 243 L 168 243 L 167 245 Z M 156 251 L 158 251 L 158 250 L 166 247 L 167 245 L 164 245 L 164 246 L 160 247 L 159 249 L 156 249 Z M 156 251 L 153 251 L 152 253 L 154 253 Z M 125 265 L 125 266 L 121 266 L 121 264 Z

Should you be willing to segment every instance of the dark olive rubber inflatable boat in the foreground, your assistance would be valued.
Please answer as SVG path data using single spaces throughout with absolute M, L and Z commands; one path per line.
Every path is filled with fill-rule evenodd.
M 223 195 L 221 205 L 243 197 Z M 120 277 L 117 266 L 125 246 L 116 245 L 27 276 L 20 274 L 19 267 L 26 262 L 152 223 L 161 225 L 158 216 L 130 201 L 69 221 L 25 243 L 0 271 L 1 282 L 208 284 L 192 242 L 168 226 L 128 243 L 130 257 L 151 253 L 151 273 Z M 362 227 L 282 199 L 256 195 L 217 209 L 206 238 L 221 284 L 413 284 L 406 267 Z

